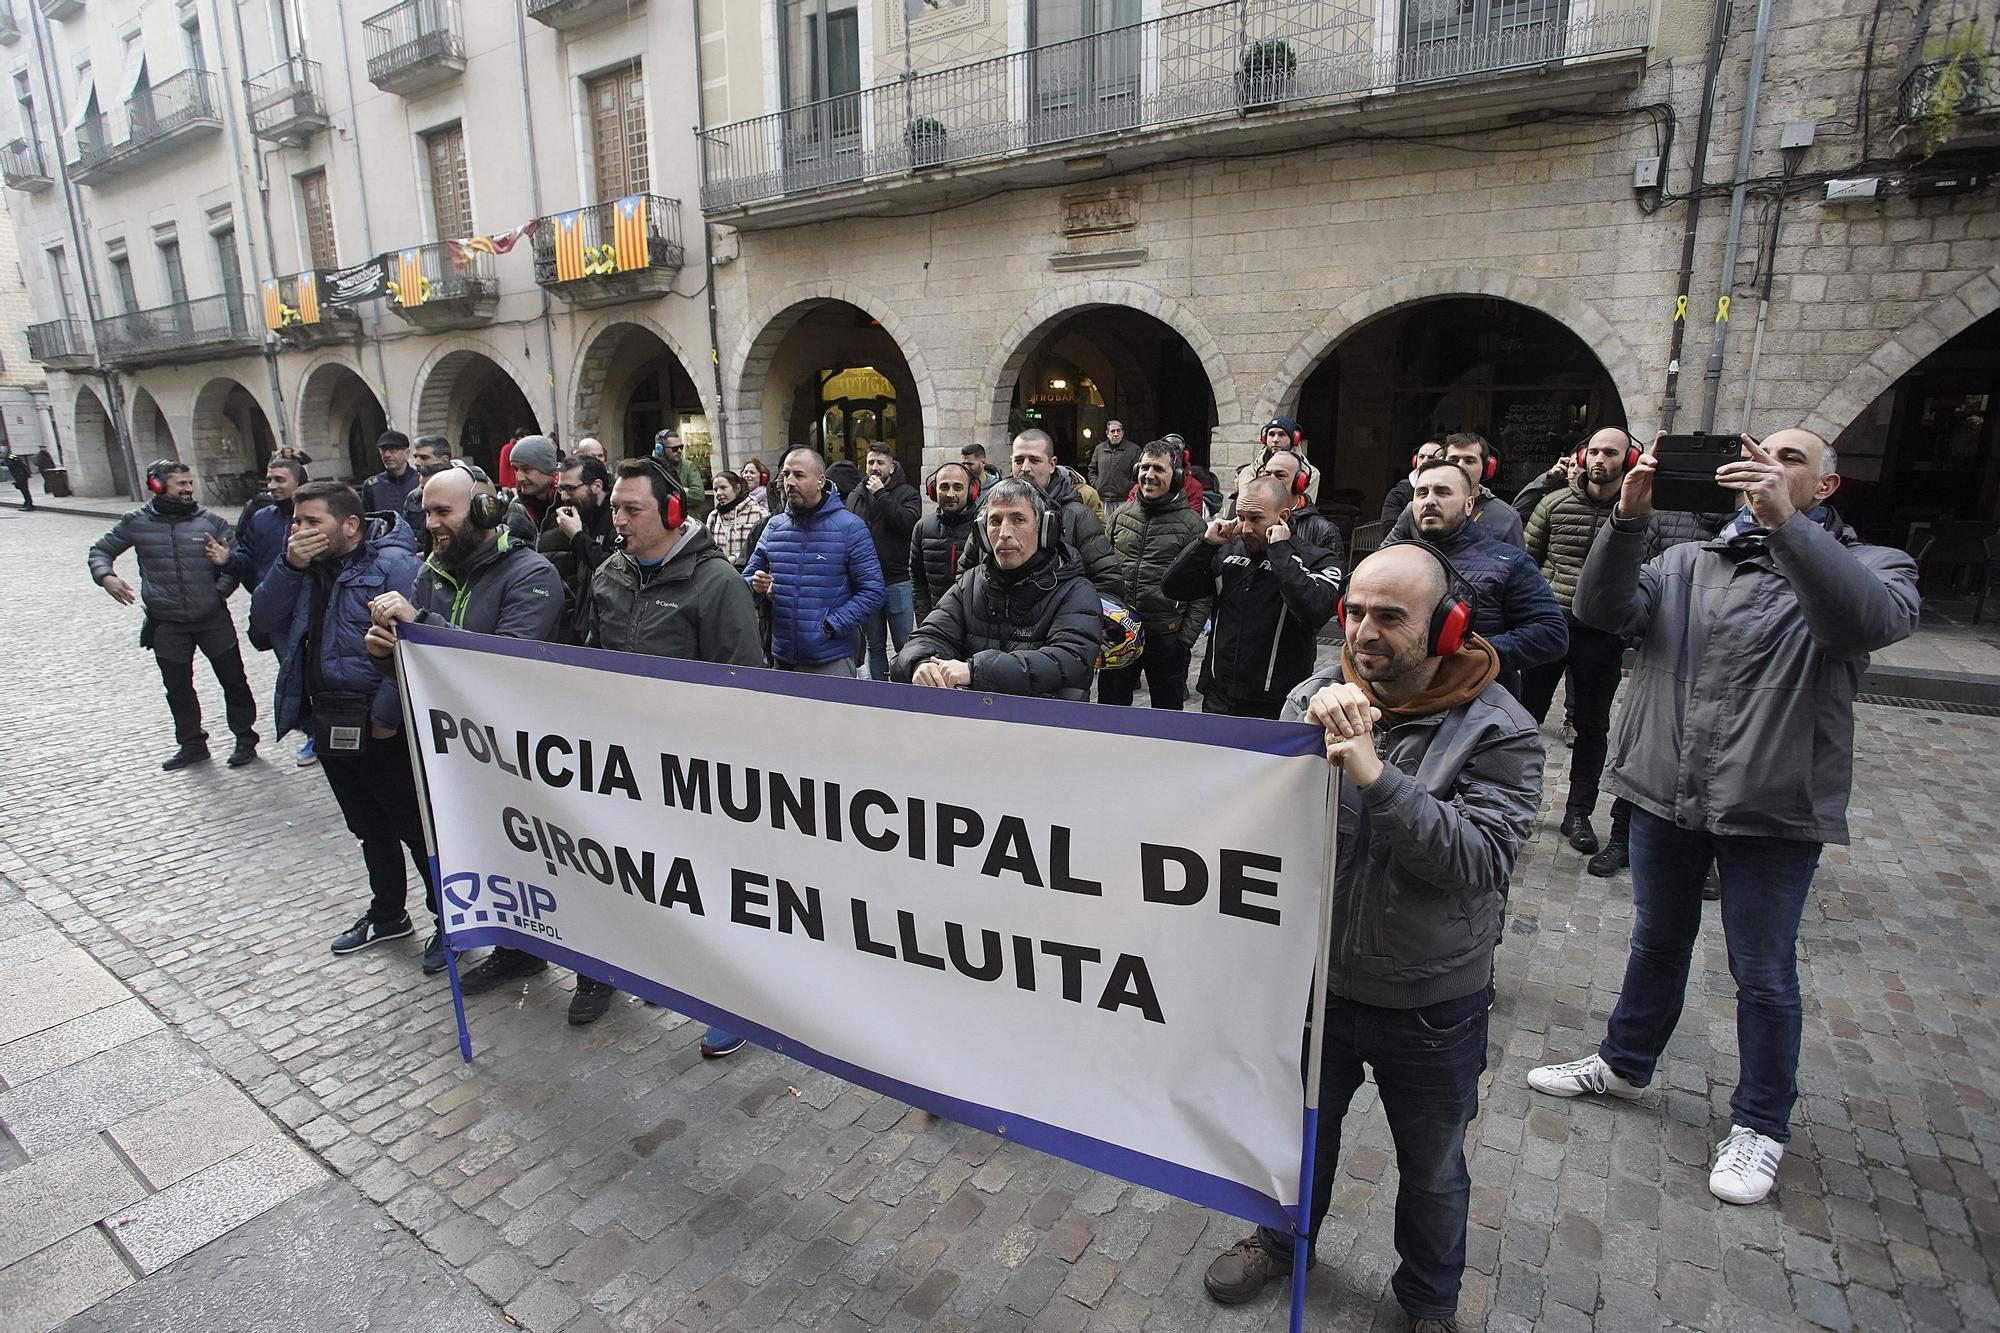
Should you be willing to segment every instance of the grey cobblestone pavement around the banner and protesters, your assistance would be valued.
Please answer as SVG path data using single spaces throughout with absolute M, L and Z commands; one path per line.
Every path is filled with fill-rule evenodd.
M 420 939 L 326 953 L 366 891 L 290 745 L 240 773 L 158 771 L 170 733 L 138 614 L 84 576 L 98 530 L 0 514 L 0 877 L 408 1233 L 394 1241 L 414 1237 L 536 1331 L 1282 1327 L 1276 1293 L 1222 1311 L 1200 1291 L 1244 1231 L 1234 1219 L 766 1051 L 702 1061 L 698 1025 L 664 1011 L 622 1003 L 568 1029 L 564 973 L 474 999 L 464 1067 Z M 256 656 L 260 699 L 270 679 Z M 1864 707 L 1858 731 L 1856 843 L 1828 855 L 1804 923 L 1804 1101 L 1764 1207 L 1706 1189 L 1734 1081 L 1712 927 L 1664 1091 L 1638 1105 L 1526 1091 L 1532 1063 L 1602 1033 L 1630 925 L 1628 881 L 1586 877 L 1544 809 L 1470 1137 L 1468 1327 L 2000 1327 L 2000 721 Z M 1310 1327 L 1394 1329 L 1396 1171 L 1366 1089 L 1354 1129 Z M 0 1143 L 0 1171 L 12 1151 Z M 314 1199 L 280 1211 L 306 1227 Z M 184 1309 L 148 1307 L 148 1285 L 198 1281 L 218 1247 L 234 1263 L 282 1253 L 246 1229 L 116 1299 Z M 110 1309 L 76 1327 L 118 1325 Z

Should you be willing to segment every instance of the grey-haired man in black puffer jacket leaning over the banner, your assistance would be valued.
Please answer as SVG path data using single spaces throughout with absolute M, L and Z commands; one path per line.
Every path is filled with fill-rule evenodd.
M 896 679 L 1034 699 L 1088 699 L 1104 606 L 1076 552 L 1042 544 L 1048 500 L 1014 476 L 980 506 L 986 558 L 944 590 L 896 654 Z

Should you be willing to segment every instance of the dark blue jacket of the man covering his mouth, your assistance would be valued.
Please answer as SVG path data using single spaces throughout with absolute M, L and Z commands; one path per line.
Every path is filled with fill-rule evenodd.
M 366 534 L 338 564 L 270 566 L 250 596 L 250 624 L 270 634 L 278 650 L 278 735 L 306 723 L 306 660 L 300 644 L 312 630 L 320 687 L 334 693 L 374 695 L 370 717 L 402 731 L 396 679 L 384 677 L 362 648 L 368 602 L 382 592 L 410 596 L 416 586 L 416 540 L 396 514 L 368 514 Z M 326 614 L 310 626 L 312 604 L 324 596 Z

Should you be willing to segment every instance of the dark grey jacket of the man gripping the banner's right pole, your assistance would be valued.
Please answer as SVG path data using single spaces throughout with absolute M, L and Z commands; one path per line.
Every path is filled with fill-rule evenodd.
M 1300 721 L 1340 664 L 1284 701 Z M 1376 735 L 1382 777 L 1340 779 L 1332 991 L 1420 1009 L 1492 981 L 1514 857 L 1542 805 L 1542 733 L 1514 697 L 1478 699 Z

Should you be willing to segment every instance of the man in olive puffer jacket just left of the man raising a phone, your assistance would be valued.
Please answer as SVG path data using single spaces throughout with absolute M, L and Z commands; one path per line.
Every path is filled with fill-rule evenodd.
M 1542 576 L 1556 590 L 1562 612 L 1570 616 L 1570 650 L 1522 677 L 1522 703 L 1536 723 L 1548 717 L 1548 707 L 1570 673 L 1576 685 L 1576 749 L 1570 751 L 1570 795 L 1562 807 L 1562 837 L 1570 847 L 1590 855 L 1598 851 L 1598 835 L 1590 815 L 1598 805 L 1598 781 L 1604 775 L 1604 755 L 1610 747 L 1612 697 L 1624 669 L 1624 638 L 1582 624 L 1572 612 L 1576 578 L 1598 528 L 1618 504 L 1618 488 L 1626 468 L 1638 462 L 1632 436 L 1608 426 L 1590 436 L 1578 450 L 1580 472 L 1552 494 L 1542 496 L 1528 518 L 1528 556 L 1542 566 Z

